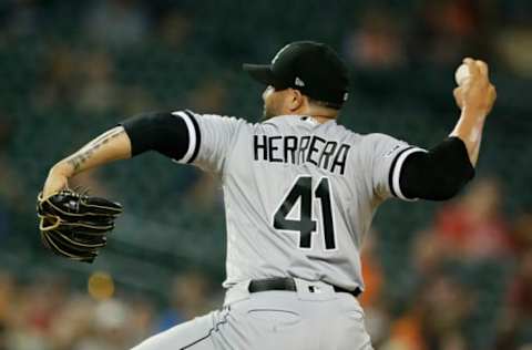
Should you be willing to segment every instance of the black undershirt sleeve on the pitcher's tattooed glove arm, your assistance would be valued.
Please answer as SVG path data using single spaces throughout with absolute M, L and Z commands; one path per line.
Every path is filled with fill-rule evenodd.
M 156 151 L 181 159 L 188 150 L 188 128 L 185 121 L 172 113 L 145 113 L 130 117 L 122 125 L 131 141 L 131 155 Z

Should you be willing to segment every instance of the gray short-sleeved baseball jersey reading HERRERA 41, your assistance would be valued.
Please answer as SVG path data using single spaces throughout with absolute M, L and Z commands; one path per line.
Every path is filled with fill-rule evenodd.
M 227 222 L 227 279 L 297 277 L 364 290 L 360 247 L 380 203 L 403 199 L 401 165 L 423 152 L 335 120 L 284 115 L 252 124 L 173 113 L 188 128 L 180 163 L 219 175 Z

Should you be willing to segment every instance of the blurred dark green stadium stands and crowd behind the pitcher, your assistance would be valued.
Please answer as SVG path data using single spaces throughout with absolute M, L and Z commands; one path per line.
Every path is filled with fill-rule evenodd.
M 49 167 L 143 111 L 257 121 L 243 62 L 324 41 L 345 58 L 340 122 L 431 146 L 453 70 L 490 63 L 499 100 L 478 175 L 451 203 L 390 200 L 364 254 L 377 349 L 532 349 L 532 2 L 0 1 L 0 349 L 126 349 L 223 296 L 218 184 L 156 154 L 76 178 L 125 214 L 93 265 L 51 256 L 34 198 Z

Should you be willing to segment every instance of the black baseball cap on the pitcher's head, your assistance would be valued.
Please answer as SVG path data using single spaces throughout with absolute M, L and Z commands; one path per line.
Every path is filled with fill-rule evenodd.
M 243 68 L 253 79 L 276 90 L 297 89 L 337 109 L 347 101 L 347 66 L 335 50 L 320 42 L 296 41 L 280 49 L 272 64 L 245 63 Z

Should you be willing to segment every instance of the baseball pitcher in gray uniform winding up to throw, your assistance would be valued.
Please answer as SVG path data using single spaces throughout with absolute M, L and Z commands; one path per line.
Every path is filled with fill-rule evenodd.
M 222 179 L 226 297 L 219 310 L 135 350 L 371 349 L 357 297 L 365 289 L 360 249 L 376 209 L 390 197 L 451 198 L 474 175 L 495 90 L 484 62 L 463 64 L 469 76 L 454 90 L 459 121 L 423 150 L 338 124 L 348 99 L 345 64 L 326 44 L 290 43 L 270 64 L 244 65 L 267 86 L 263 122 L 187 110 L 144 114 L 57 163 L 39 197 L 43 228 L 52 227 L 44 230 L 48 246 L 91 261 L 102 239 L 91 245 L 80 233 L 101 223 L 111 228 L 120 206 L 72 193 L 69 178 L 156 151 Z M 94 207 L 103 218 L 90 215 Z M 80 220 L 85 225 L 76 227 Z

